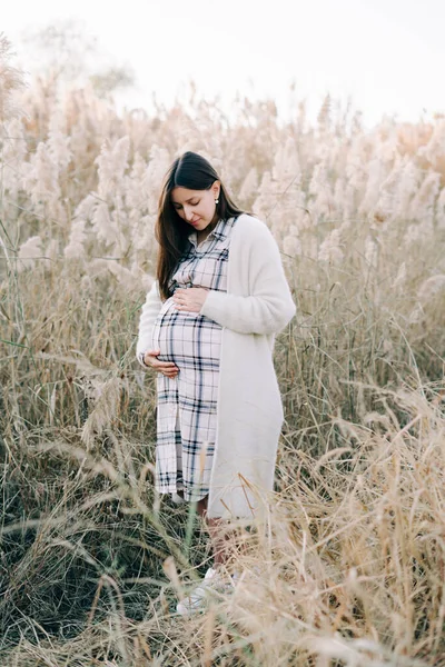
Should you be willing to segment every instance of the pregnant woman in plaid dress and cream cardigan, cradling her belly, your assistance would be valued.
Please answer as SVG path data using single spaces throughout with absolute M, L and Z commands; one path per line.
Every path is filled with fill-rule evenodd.
M 214 548 L 214 567 L 178 604 L 189 614 L 220 583 L 228 521 L 260 516 L 273 489 L 283 425 L 274 337 L 295 305 L 268 227 L 197 153 L 166 175 L 156 238 L 137 344 L 139 362 L 158 372 L 156 489 L 197 504 Z

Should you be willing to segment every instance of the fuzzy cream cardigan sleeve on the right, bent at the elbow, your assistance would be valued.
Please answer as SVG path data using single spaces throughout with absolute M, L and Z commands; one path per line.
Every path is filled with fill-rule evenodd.
M 238 334 L 278 334 L 296 308 L 275 238 L 265 225 L 255 225 L 243 239 L 239 270 L 249 296 L 210 290 L 200 315 Z

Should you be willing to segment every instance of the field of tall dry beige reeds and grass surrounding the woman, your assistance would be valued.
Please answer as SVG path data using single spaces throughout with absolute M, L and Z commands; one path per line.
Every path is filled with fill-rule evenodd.
M 445 119 L 326 98 L 197 98 L 117 115 L 21 87 L 0 40 L 2 665 L 445 665 Z M 286 421 L 241 585 L 175 616 L 206 532 L 152 489 L 154 377 L 135 360 L 162 176 L 209 158 L 277 239 L 297 316 Z

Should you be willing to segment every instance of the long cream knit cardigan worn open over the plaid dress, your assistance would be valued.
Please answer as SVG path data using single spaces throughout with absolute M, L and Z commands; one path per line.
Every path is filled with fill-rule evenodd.
M 283 405 L 275 374 L 275 335 L 295 315 L 278 246 L 268 227 L 239 216 L 230 239 L 227 292 L 210 290 L 200 310 L 222 327 L 217 437 L 208 516 L 264 516 L 274 487 Z M 142 307 L 136 354 L 151 348 L 162 302 L 155 281 Z

